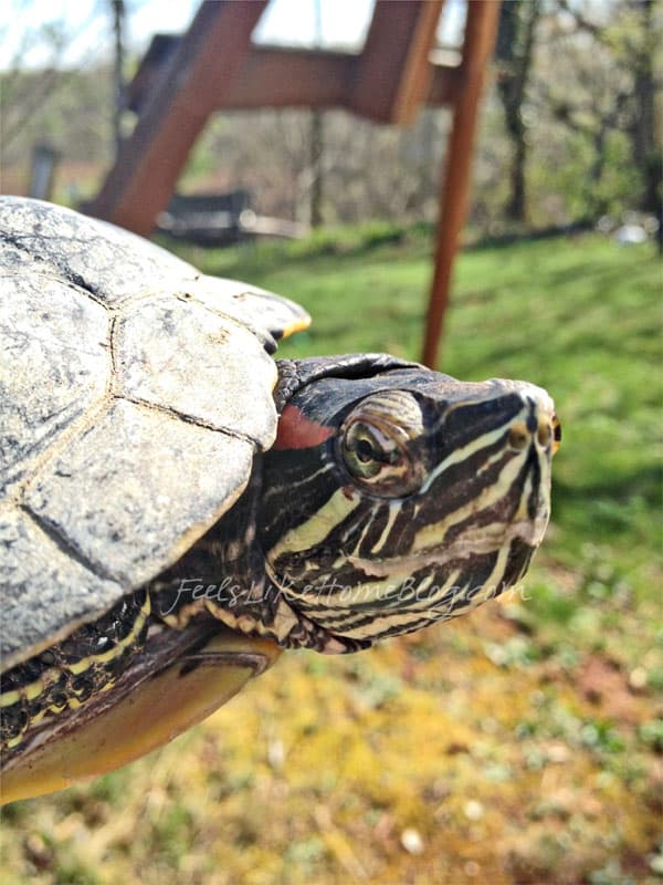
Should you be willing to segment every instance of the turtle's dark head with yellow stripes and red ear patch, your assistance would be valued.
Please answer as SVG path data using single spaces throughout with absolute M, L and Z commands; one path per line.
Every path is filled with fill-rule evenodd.
M 296 622 L 286 644 L 352 650 L 519 581 L 550 512 L 545 391 L 380 355 L 282 364 L 281 379 L 259 535 Z

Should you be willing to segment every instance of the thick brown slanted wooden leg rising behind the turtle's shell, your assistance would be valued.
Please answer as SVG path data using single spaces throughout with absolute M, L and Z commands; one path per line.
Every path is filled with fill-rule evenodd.
M 201 3 L 88 207 L 92 215 L 149 233 L 219 95 L 230 90 L 265 6 L 266 0 Z

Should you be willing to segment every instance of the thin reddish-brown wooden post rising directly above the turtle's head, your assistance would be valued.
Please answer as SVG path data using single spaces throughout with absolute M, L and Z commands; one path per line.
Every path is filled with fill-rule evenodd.
M 485 73 L 495 46 L 499 0 L 472 0 L 463 45 L 462 86 L 456 98 L 446 148 L 446 169 L 441 189 L 435 268 L 431 287 L 422 361 L 433 367 L 438 360 L 453 260 L 467 214 L 470 171 L 478 104 Z

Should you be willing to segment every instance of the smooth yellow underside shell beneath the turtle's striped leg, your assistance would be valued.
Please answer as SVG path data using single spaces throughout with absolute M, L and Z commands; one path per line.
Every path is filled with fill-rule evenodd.
M 84 705 L 8 761 L 2 803 L 62 790 L 138 759 L 214 712 L 278 655 L 271 642 L 223 629 L 155 676 L 137 681 L 129 669 L 101 694 L 103 709 Z

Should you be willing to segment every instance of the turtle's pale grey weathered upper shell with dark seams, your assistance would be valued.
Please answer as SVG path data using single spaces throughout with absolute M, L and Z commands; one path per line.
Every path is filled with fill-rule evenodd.
M 291 301 L 50 204 L 0 198 L 0 655 L 176 562 L 276 433 Z

